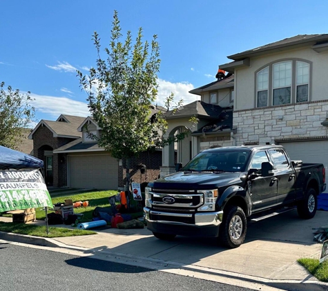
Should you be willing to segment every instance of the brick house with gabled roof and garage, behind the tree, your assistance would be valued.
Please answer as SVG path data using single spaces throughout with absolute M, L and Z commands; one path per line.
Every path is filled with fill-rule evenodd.
M 154 114 L 155 108 L 151 110 Z M 44 160 L 46 184 L 55 187 L 123 189 L 122 163 L 99 148 L 88 132 L 100 137 L 102 129 L 91 117 L 61 114 L 56 121 L 41 120 L 29 135 L 34 156 Z M 142 152 L 131 159 L 131 175 L 136 183 L 157 179 L 162 150 Z

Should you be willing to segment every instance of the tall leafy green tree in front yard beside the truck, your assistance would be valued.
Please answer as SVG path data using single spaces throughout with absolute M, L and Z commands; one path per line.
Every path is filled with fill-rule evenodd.
M 89 70 L 88 75 L 77 72 L 81 87 L 88 94 L 88 107 L 93 119 L 102 128 L 101 137 L 93 137 L 113 157 L 126 159 L 127 185 L 130 185 L 131 157 L 174 141 L 163 139 L 168 126 L 161 112 L 151 119 L 151 105 L 157 97 L 160 45 L 156 35 L 151 43 L 143 42 L 142 37 L 142 28 L 139 28 L 134 44 L 131 31 L 126 33 L 122 42 L 115 11 L 109 47 L 104 49 L 106 57 L 101 57 L 100 38 L 94 32 L 96 66 Z M 172 101 L 173 94 L 168 96 L 166 104 Z M 178 134 L 175 140 L 183 139 L 185 135 Z

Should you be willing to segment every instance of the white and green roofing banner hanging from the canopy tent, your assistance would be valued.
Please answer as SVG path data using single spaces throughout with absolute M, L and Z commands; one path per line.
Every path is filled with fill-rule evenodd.
M 0 171 L 0 212 L 46 206 L 53 207 L 39 170 Z

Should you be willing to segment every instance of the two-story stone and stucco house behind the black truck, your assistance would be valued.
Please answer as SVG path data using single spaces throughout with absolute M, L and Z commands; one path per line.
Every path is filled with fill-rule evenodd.
M 298 35 L 228 58 L 233 61 L 219 68 L 232 74 L 230 77 L 191 93 L 213 106 L 233 105 L 232 124 L 228 122 L 231 117 L 227 117 L 221 124 L 222 132 L 217 134 L 217 127 L 210 126 L 218 125 L 218 114 L 207 125 L 201 119 L 191 133 L 191 155 L 214 143 L 279 143 L 287 148 L 291 159 L 324 163 L 327 168 L 328 34 Z M 171 119 L 168 131 L 178 126 L 186 126 L 186 122 Z M 164 154 L 167 153 L 168 147 L 164 148 Z M 177 161 L 186 160 L 178 156 Z M 163 165 L 163 173 L 168 172 L 165 168 L 174 171 L 171 160 L 165 156 Z

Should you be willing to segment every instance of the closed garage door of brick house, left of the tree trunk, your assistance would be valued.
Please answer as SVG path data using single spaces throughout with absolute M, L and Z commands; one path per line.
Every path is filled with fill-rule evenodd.
M 72 188 L 117 189 L 118 162 L 108 154 L 68 156 Z

